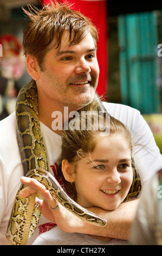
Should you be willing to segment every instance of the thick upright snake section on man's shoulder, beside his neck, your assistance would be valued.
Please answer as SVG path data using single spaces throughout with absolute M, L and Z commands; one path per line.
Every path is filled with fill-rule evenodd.
M 24 168 L 48 170 L 46 148 L 38 118 L 38 95 L 35 81 L 25 85 L 18 94 L 16 104 L 17 142 Z M 23 147 L 22 147 L 23 145 Z

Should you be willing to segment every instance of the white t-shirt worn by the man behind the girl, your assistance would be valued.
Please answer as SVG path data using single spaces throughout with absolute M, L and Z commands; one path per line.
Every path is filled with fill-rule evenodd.
M 155 144 L 152 132 L 139 111 L 131 107 L 104 103 L 107 111 L 124 123 L 132 133 L 133 153 L 137 161 L 142 182 L 150 178 L 162 167 L 162 156 Z M 55 174 L 61 154 L 61 137 L 41 123 L 41 131 L 46 145 L 49 172 Z M 0 245 L 8 245 L 5 238 L 8 220 L 11 214 L 15 195 L 20 187 L 23 168 L 16 141 L 15 112 L 0 122 Z M 33 243 L 43 231 L 53 227 L 43 216 L 28 244 Z

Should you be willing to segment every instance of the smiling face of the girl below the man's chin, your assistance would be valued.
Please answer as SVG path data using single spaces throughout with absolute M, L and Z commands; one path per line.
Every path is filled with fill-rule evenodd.
M 123 135 L 98 137 L 92 153 L 77 162 L 77 203 L 114 210 L 126 198 L 133 180 L 131 149 Z

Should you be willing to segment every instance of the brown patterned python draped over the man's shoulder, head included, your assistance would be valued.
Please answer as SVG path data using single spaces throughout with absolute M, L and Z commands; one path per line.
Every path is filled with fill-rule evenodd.
M 41 135 L 38 119 L 38 95 L 35 81 L 25 85 L 19 92 L 16 102 L 17 142 L 21 154 L 24 175 L 38 179 L 65 208 L 82 220 L 103 226 L 107 223 L 101 217 L 76 204 L 62 190 L 56 179 L 48 173 L 46 149 Z M 44 169 L 44 170 L 43 170 Z M 25 245 L 33 235 L 41 212 L 34 208 L 35 197 L 20 197 L 22 184 L 16 194 L 6 237 L 11 245 Z

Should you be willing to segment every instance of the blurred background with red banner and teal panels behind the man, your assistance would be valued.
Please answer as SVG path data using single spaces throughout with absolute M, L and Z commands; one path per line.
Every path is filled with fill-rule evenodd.
M 162 152 L 162 3 L 68 2 L 99 29 L 98 94 L 137 108 Z M 15 110 L 18 91 L 30 81 L 22 49 L 29 22 L 22 7 L 28 9 L 29 3 L 42 8 L 49 1 L 0 0 L 0 120 Z

